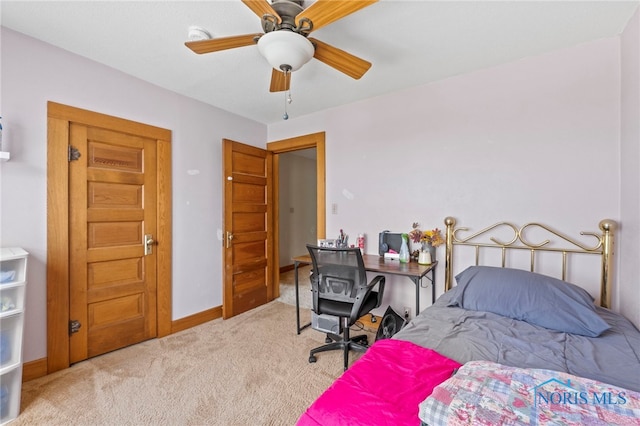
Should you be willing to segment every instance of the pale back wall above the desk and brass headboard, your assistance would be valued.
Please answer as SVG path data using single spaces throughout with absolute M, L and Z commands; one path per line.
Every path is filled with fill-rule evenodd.
M 292 117 L 269 126 L 269 139 L 319 130 L 327 206 L 338 204 L 327 233 L 364 231 L 368 253 L 383 229 L 442 228 L 449 215 L 475 230 L 537 221 L 570 236 L 620 220 L 617 37 Z M 637 261 L 637 247 L 627 256 Z M 439 295 L 444 262 L 437 273 Z M 412 285 L 390 281 L 385 303 L 412 306 Z M 637 274 L 619 287 L 637 291 Z

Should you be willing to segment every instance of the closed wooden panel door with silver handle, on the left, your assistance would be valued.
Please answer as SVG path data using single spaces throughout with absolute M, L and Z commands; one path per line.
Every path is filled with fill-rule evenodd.
M 71 123 L 71 363 L 156 336 L 156 140 Z M 146 246 L 146 247 L 145 247 Z M 147 250 L 145 250 L 147 248 Z

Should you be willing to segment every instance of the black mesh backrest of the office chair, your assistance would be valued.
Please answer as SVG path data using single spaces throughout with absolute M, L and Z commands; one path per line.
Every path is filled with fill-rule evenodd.
M 314 311 L 320 299 L 356 303 L 367 287 L 367 272 L 359 248 L 329 248 L 308 244 L 313 271 Z M 317 290 L 316 290 L 317 289 Z

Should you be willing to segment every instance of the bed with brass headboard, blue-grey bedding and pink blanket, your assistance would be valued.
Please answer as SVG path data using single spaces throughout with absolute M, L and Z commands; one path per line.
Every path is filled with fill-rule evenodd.
M 445 293 L 375 342 L 298 425 L 640 425 L 640 332 L 609 310 L 615 222 L 578 238 L 538 223 L 445 225 Z M 473 261 L 454 269 L 459 250 Z M 597 271 L 597 303 L 570 283 L 583 269 Z

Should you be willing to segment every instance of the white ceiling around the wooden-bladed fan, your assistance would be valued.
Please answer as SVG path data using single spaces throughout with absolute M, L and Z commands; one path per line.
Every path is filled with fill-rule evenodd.
M 307 7 L 311 2 L 305 2 Z M 312 59 L 292 76 L 295 118 L 476 69 L 620 34 L 639 1 L 381 0 L 313 37 L 373 63 L 360 80 Z M 2 25 L 241 116 L 282 120 L 283 93 L 256 46 L 196 55 L 214 37 L 262 32 L 240 0 L 8 1 Z

